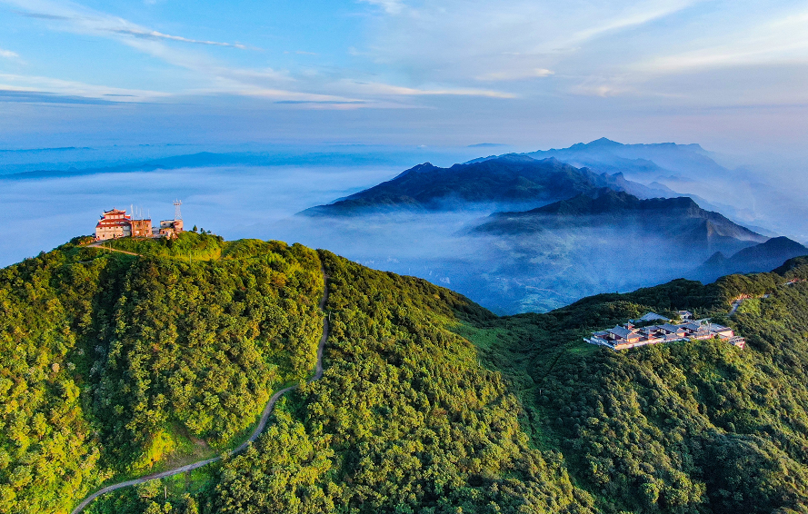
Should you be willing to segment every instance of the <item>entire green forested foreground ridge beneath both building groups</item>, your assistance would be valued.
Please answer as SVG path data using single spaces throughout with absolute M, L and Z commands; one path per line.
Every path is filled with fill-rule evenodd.
M 215 445 L 248 425 L 273 383 L 311 371 L 320 265 L 331 319 L 323 379 L 282 400 L 252 449 L 119 489 L 88 512 L 808 509 L 808 282 L 791 282 L 808 278 L 804 260 L 782 274 L 674 281 L 498 318 L 330 252 L 199 234 L 183 245 L 214 242 L 218 256 L 191 264 L 166 243 L 155 243 L 168 250 L 159 257 L 65 245 L 3 271 L 0 372 L 5 404 L 19 406 L 0 429 L 3 511 L 65 512 L 114 473 L 137 474 L 115 470 L 155 456 L 144 443 L 180 431 L 166 427 Z M 741 295 L 752 299 L 726 320 Z M 613 352 L 582 341 L 680 309 L 733 325 L 748 349 Z M 234 403 L 227 392 L 242 386 L 218 390 L 202 378 L 211 371 L 241 381 L 238 396 L 258 405 Z

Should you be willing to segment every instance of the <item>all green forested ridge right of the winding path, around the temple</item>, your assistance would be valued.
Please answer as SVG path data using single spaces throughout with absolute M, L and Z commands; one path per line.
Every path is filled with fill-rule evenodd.
M 334 321 L 323 381 L 201 489 L 183 498 L 187 485 L 169 482 L 180 512 L 808 509 L 808 284 L 792 282 L 808 278 L 804 260 L 497 318 L 428 282 L 321 257 Z M 757 299 L 725 319 L 741 295 Z M 683 308 L 749 347 L 581 340 Z M 94 512 L 157 512 L 161 493 L 116 492 Z

